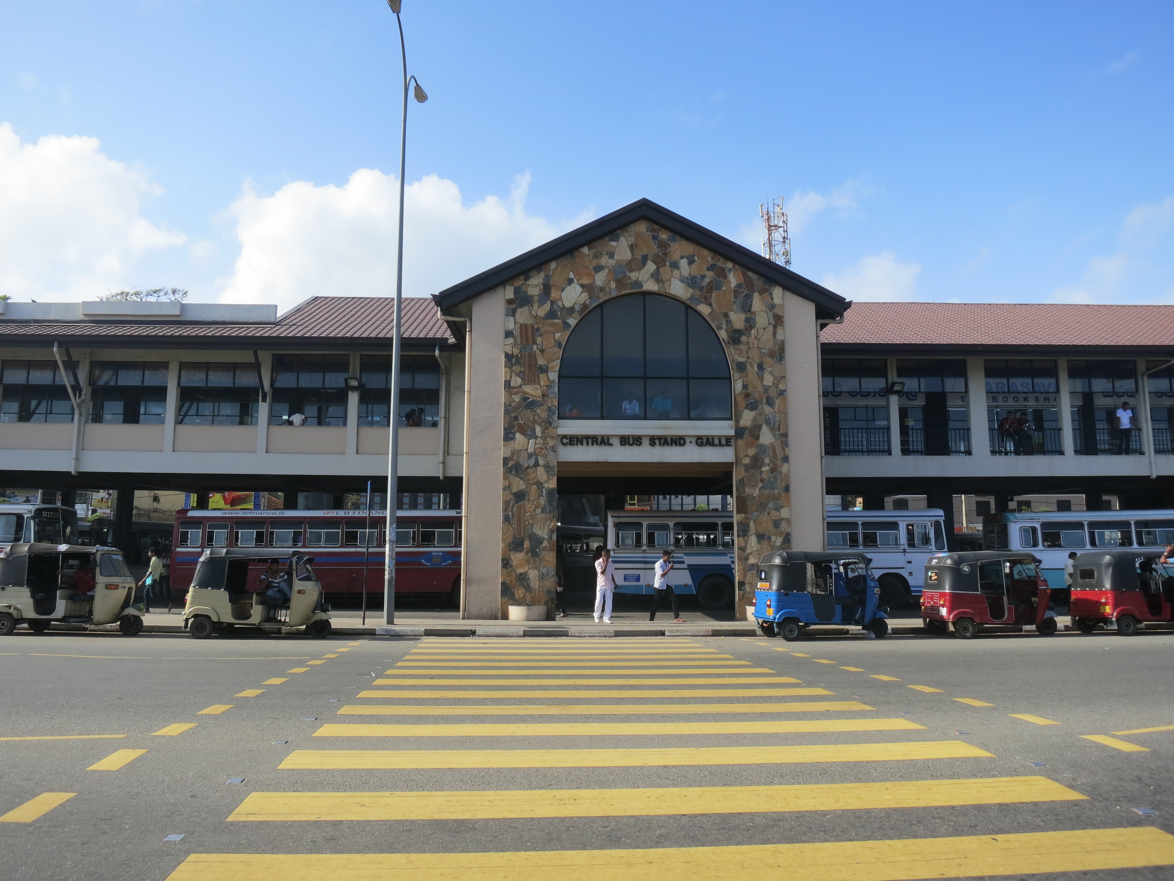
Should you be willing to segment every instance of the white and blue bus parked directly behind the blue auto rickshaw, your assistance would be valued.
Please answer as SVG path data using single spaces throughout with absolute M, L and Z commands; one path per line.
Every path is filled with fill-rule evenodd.
M 880 605 L 920 601 L 925 560 L 946 550 L 945 515 L 920 511 L 828 511 L 828 550 L 863 551 L 880 585 Z

